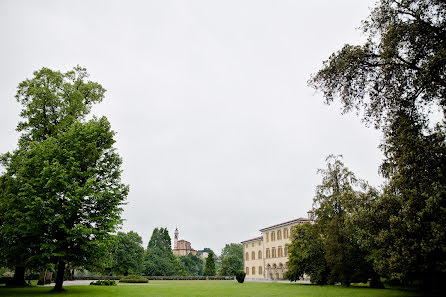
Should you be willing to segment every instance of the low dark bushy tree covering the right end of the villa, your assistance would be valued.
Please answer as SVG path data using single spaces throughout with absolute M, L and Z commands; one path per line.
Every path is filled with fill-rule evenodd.
M 285 278 L 297 281 L 308 275 L 312 283 L 325 285 L 328 282 L 328 266 L 319 226 L 297 225 L 291 235 L 288 248 L 288 271 Z

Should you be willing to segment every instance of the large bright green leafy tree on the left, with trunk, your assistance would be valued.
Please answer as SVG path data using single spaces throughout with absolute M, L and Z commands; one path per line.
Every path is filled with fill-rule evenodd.
M 105 90 L 86 81 L 85 69 L 47 68 L 19 84 L 24 118 L 17 150 L 1 156 L 1 252 L 24 283 L 25 266 L 57 264 L 55 290 L 65 266 L 93 265 L 121 222 L 128 186 L 105 117 L 85 121 Z

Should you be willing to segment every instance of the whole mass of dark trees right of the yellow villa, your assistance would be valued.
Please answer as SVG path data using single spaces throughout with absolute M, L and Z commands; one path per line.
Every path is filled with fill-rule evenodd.
M 316 224 L 299 226 L 290 279 L 345 285 L 380 277 L 425 288 L 446 278 L 446 3 L 381 0 L 367 41 L 333 53 L 309 81 L 326 103 L 380 129 L 384 184 L 370 187 L 339 156 L 320 170 Z M 367 156 L 364 156 L 365 158 Z

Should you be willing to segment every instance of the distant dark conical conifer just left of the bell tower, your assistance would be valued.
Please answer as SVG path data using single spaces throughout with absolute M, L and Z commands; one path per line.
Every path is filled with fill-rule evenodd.
M 167 228 L 155 228 L 144 255 L 144 275 L 186 275 L 171 248 Z

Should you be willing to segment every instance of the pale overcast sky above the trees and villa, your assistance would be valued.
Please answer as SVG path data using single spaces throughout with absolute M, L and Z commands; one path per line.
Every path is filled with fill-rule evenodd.
M 20 81 L 79 64 L 107 89 L 130 185 L 122 226 L 217 254 L 305 217 L 329 154 L 378 186 L 381 134 L 307 80 L 375 1 L 0 0 L 0 153 L 16 147 Z

